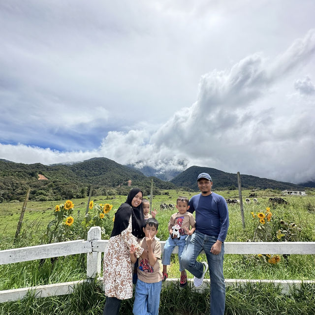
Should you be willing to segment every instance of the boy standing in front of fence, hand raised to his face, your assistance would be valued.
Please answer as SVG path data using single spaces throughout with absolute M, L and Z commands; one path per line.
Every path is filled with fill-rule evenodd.
M 138 280 L 134 291 L 134 315 L 158 315 L 159 297 L 162 288 L 162 273 L 159 270 L 161 244 L 155 239 L 158 233 L 158 221 L 149 218 L 143 228 L 145 237 L 138 240 L 139 245 L 148 251 L 149 257 L 141 255 L 138 259 Z M 130 248 L 130 260 L 136 262 L 134 246 Z

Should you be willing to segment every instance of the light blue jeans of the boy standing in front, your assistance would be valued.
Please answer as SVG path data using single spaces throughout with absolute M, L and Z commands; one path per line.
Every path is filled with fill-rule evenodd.
M 161 289 L 161 281 L 147 284 L 138 279 L 134 290 L 132 313 L 134 315 L 158 315 Z

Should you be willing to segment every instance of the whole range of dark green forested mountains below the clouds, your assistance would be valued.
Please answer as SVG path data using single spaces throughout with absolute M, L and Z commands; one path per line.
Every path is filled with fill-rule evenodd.
M 176 187 L 197 191 L 196 178 L 201 172 L 212 176 L 214 189 L 237 188 L 236 174 L 209 167 L 191 166 L 171 181 L 162 181 L 108 158 L 91 158 L 83 162 L 50 166 L 0 159 L 0 202 L 23 201 L 29 187 L 30 200 L 38 201 L 83 198 L 91 186 L 93 195 L 126 195 L 131 187 L 140 187 L 145 194 L 150 194 L 151 179 L 154 194 L 159 194 L 160 189 Z M 299 185 L 251 175 L 241 175 L 241 182 L 243 188 L 304 189 Z

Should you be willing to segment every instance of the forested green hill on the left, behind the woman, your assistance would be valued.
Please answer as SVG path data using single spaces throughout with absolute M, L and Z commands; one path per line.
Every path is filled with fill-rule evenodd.
M 47 180 L 38 180 L 38 174 Z M 150 193 L 151 178 L 108 158 L 92 158 L 72 165 L 47 166 L 0 160 L 0 202 L 23 201 L 31 187 L 30 200 L 47 201 L 93 195 L 127 194 L 130 187 Z M 131 186 L 130 186 L 131 185 Z M 172 189 L 175 185 L 154 178 L 153 192 Z

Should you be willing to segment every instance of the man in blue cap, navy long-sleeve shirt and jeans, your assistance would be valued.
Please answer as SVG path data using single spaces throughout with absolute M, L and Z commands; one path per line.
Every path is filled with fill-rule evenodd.
M 193 284 L 201 286 L 205 273 L 210 273 L 210 314 L 223 315 L 225 308 L 225 284 L 223 277 L 224 240 L 229 225 L 225 199 L 211 191 L 212 179 L 208 173 L 197 177 L 201 193 L 189 200 L 189 212 L 196 212 L 196 230 L 186 239 L 181 261 L 185 269 L 194 275 Z M 200 252 L 206 253 L 208 264 L 197 261 Z

